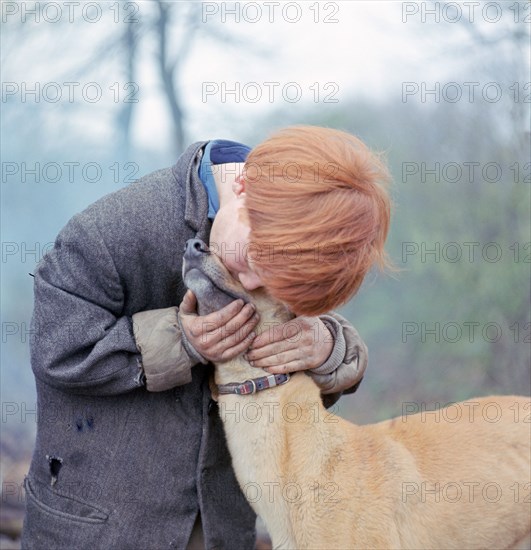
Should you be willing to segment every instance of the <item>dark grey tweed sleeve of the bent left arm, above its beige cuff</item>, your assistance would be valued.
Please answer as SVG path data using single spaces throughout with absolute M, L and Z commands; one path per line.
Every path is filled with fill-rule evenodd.
M 74 216 L 38 264 L 31 364 L 63 391 L 112 395 L 143 384 L 132 318 L 104 239 L 89 216 Z

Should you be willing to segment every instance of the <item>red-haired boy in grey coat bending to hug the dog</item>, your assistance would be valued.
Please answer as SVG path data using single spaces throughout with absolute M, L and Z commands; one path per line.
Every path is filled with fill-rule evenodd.
M 194 524 L 207 548 L 254 547 L 209 362 L 246 351 L 257 376 L 305 370 L 327 405 L 356 390 L 365 345 L 325 312 L 385 264 L 386 178 L 356 138 L 288 128 L 252 151 L 195 143 L 68 222 L 35 272 L 23 548 L 186 548 Z M 199 317 L 181 278 L 195 237 L 284 301 L 289 327 L 254 338 L 241 301 Z

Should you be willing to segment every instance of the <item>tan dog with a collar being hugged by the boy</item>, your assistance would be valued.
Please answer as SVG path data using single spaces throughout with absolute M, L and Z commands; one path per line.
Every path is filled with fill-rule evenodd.
M 201 241 L 189 241 L 183 275 L 201 315 L 241 297 L 257 306 L 258 333 L 290 319 L 265 291 L 246 293 Z M 239 357 L 216 364 L 215 382 L 264 375 Z M 494 396 L 356 426 L 327 412 L 302 372 L 219 395 L 242 491 L 274 548 L 290 549 L 529 548 L 530 404 Z

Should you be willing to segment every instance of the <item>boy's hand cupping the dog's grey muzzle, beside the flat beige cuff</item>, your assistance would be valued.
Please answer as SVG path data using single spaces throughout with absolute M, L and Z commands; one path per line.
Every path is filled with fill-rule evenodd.
M 200 316 L 191 290 L 184 295 L 179 316 L 189 343 L 209 361 L 226 361 L 244 352 L 256 336 L 252 331 L 259 321 L 255 306 L 241 299 Z

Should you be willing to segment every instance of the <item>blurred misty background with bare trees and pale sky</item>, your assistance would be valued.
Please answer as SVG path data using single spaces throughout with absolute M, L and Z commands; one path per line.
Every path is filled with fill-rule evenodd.
M 1 4 L 6 548 L 35 435 L 29 274 L 74 213 L 197 140 L 315 124 L 385 152 L 398 269 L 340 311 L 370 362 L 336 412 L 529 395 L 529 2 L 77 4 Z

